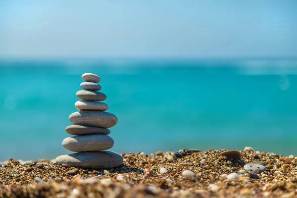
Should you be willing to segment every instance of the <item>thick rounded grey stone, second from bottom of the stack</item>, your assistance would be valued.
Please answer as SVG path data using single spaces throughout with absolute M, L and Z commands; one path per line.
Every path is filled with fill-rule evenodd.
M 68 137 L 62 142 L 62 146 L 70 151 L 107 150 L 113 144 L 112 138 L 102 134 Z

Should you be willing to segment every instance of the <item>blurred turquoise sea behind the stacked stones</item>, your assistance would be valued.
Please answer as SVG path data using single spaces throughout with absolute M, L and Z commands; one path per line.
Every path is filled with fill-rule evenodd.
M 100 76 L 116 152 L 297 155 L 297 59 L 0 60 L 0 161 L 69 153 L 81 75 Z

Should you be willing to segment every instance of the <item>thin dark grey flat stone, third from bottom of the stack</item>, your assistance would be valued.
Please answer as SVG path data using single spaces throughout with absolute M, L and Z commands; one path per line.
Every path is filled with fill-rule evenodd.
M 83 126 L 83 125 L 70 125 L 66 127 L 65 131 L 74 136 L 92 135 L 92 134 L 103 134 L 103 135 L 110 134 L 110 131 L 108 129 Z

